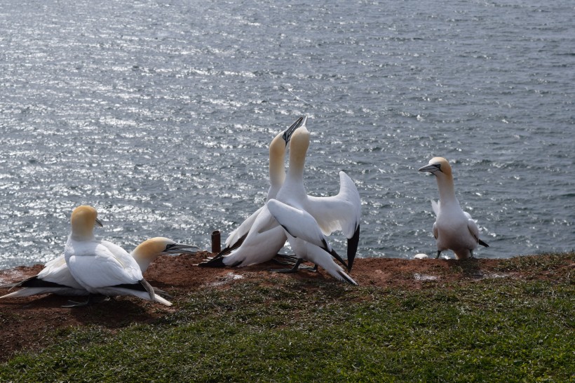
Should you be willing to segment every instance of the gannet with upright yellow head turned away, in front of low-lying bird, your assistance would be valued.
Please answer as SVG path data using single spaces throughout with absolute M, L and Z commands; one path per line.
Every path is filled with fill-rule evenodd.
M 71 222 L 72 234 L 64 248 L 64 257 L 70 273 L 88 293 L 134 295 L 166 306 L 172 305 L 154 293 L 154 288 L 142 276 L 136 260 L 126 250 L 94 237 L 93 227 L 99 222 L 95 208 L 75 208 Z

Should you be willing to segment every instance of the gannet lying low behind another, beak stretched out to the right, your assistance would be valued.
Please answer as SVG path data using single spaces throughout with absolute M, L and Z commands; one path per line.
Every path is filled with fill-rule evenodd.
M 102 241 L 109 243 L 107 241 Z M 114 245 L 113 243 L 111 245 Z M 170 238 L 154 237 L 147 239 L 140 243 L 130 253 L 140 266 L 140 270 L 144 273 L 149 264 L 160 255 L 167 254 L 195 254 L 198 251 L 197 246 L 184 245 L 183 243 L 176 243 Z M 57 294 L 68 296 L 81 296 L 88 295 L 88 290 L 83 288 L 76 279 L 72 276 L 66 264 L 64 255 L 47 262 L 42 271 L 36 276 L 27 278 L 24 281 L 10 283 L 8 285 L 0 285 L 0 288 L 19 288 L 21 290 L 3 295 L 2 298 L 14 297 L 28 297 L 37 294 Z M 156 289 L 154 289 L 156 290 Z M 156 290 L 157 292 L 158 290 Z

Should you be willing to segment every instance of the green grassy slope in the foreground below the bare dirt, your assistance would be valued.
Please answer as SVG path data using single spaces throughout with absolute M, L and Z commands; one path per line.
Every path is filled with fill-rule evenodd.
M 502 260 L 501 272 L 553 274 L 566 258 Z M 574 296 L 569 274 L 421 290 L 270 276 L 189 293 L 153 325 L 60 330 L 0 365 L 0 382 L 568 382 Z

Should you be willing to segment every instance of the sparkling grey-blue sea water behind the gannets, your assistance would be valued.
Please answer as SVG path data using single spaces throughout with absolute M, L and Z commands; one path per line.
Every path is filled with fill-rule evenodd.
M 0 0 L 0 268 L 97 235 L 210 248 L 309 116 L 309 194 L 356 182 L 358 256 L 435 253 L 433 156 L 489 248 L 575 248 L 575 4 Z M 344 251 L 341 233 L 330 237 Z M 452 253 L 448 253 L 452 255 Z

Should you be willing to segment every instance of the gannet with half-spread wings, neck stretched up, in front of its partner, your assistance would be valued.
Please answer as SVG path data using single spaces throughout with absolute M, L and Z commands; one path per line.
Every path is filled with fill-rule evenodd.
M 360 234 L 361 202 L 358 189 L 346 173 L 339 172 L 340 187 L 336 196 L 308 196 L 303 179 L 308 147 L 309 131 L 303 126 L 292 135 L 288 175 L 276 200 L 271 199 L 267 204 L 271 215 L 288 234 L 288 241 L 298 258 L 294 268 L 289 271 L 297 271 L 299 263 L 309 260 L 335 278 L 357 284 L 335 264 L 331 255 L 346 265 L 348 271 L 351 270 Z M 348 264 L 325 238 L 336 230 L 343 231 L 348 238 Z

